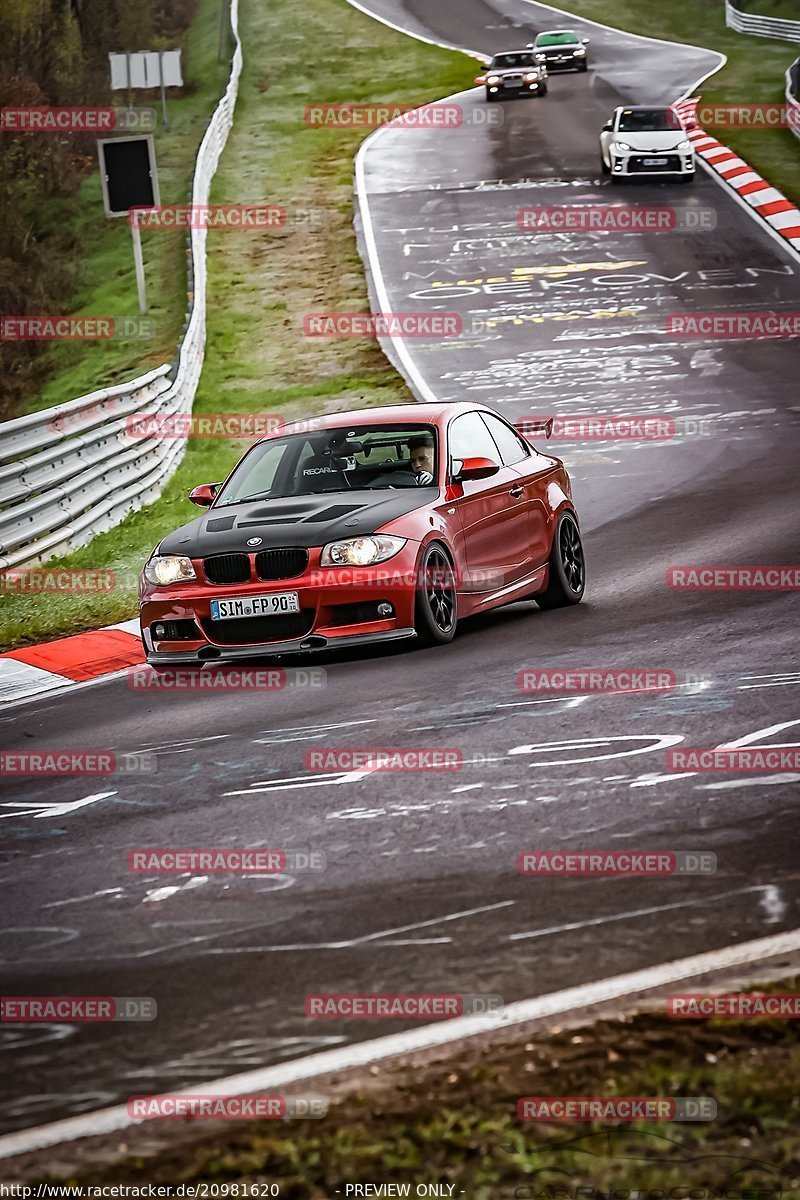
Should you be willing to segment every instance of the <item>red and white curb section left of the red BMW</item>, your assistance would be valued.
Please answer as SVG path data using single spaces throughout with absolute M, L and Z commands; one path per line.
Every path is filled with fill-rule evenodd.
M 125 620 L 56 642 L 0 654 L 0 701 L 32 700 L 144 662 L 139 622 Z

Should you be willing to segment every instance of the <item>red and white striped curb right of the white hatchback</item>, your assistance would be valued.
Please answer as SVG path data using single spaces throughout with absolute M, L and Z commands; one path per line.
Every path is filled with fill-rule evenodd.
M 679 101 L 674 108 L 686 125 L 698 158 L 726 182 L 756 216 L 766 222 L 793 250 L 800 251 L 800 210 L 777 187 L 753 170 L 738 154 L 717 142 L 697 124 L 699 96 Z

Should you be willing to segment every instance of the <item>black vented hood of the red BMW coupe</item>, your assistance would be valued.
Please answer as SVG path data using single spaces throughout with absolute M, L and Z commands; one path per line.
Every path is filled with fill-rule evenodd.
M 237 550 L 323 546 L 339 538 L 375 533 L 390 521 L 431 504 L 437 494 L 435 487 L 329 492 L 209 509 L 197 521 L 168 534 L 160 553 L 204 558 Z M 261 541 L 248 547 L 248 538 Z

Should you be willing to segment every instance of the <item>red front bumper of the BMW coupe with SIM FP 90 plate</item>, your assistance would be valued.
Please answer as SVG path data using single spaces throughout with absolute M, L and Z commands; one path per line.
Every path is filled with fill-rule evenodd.
M 234 584 L 205 582 L 201 560 L 193 559 L 197 582 L 142 584 L 139 616 L 148 661 L 213 662 L 413 637 L 419 552 L 419 545 L 409 541 L 386 563 L 341 569 L 320 568 L 318 548 L 309 552 L 308 566 L 299 576 Z M 297 613 L 212 618 L 212 600 L 284 592 L 297 593 Z M 391 614 L 381 616 L 379 605 L 391 605 Z

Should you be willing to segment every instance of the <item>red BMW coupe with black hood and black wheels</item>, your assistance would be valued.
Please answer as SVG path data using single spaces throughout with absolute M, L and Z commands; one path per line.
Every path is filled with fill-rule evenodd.
M 257 442 L 161 541 L 139 608 L 154 666 L 416 638 L 516 600 L 578 604 L 570 478 L 488 408 L 398 404 Z

